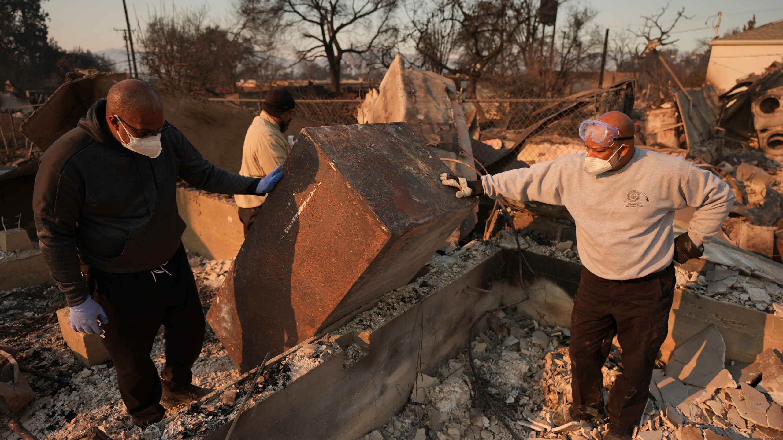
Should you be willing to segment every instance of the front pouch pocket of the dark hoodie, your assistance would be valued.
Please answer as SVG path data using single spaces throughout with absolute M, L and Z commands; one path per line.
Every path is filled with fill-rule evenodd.
M 104 265 L 106 271 L 133 273 L 162 265 L 177 251 L 185 228 L 185 222 L 174 211 L 160 222 L 131 229 L 122 254 Z

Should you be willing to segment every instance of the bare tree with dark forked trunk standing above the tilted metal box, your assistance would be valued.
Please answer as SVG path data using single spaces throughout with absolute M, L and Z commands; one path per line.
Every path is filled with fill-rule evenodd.
M 297 50 L 299 60 L 326 58 L 332 92 L 339 93 L 345 54 L 388 45 L 396 35 L 392 13 L 398 5 L 399 0 L 278 0 L 276 11 L 286 17 L 287 29 L 301 30 L 306 45 Z

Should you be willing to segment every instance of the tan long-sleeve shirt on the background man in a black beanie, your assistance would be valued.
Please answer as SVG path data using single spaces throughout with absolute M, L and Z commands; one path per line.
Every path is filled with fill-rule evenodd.
M 253 118 L 247 128 L 244 146 L 242 146 L 242 168 L 240 175 L 265 177 L 286 161 L 290 147 L 280 125 L 269 114 L 262 111 Z M 266 196 L 236 194 L 234 200 L 239 207 L 258 207 Z

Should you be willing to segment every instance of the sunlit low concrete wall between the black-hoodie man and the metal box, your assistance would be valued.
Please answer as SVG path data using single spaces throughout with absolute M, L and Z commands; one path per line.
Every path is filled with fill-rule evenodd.
M 189 251 L 218 260 L 236 257 L 244 233 L 233 199 L 180 186 L 177 209 L 187 225 L 182 243 Z

